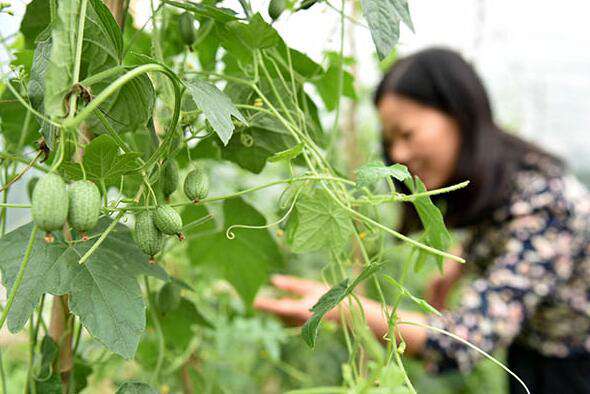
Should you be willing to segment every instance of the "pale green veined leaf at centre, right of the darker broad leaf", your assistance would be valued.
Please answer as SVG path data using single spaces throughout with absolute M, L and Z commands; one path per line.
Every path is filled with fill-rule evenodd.
M 354 228 L 349 214 L 324 189 L 303 193 L 295 209 L 297 226 L 287 226 L 287 232 L 293 232 L 288 236 L 295 253 L 328 248 L 339 251 L 350 241 Z

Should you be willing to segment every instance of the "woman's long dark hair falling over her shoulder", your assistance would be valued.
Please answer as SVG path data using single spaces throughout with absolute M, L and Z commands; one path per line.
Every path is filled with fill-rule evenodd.
M 558 158 L 494 123 L 488 95 L 475 69 L 452 50 L 430 48 L 396 61 L 377 87 L 375 105 L 387 94 L 440 110 L 459 125 L 461 148 L 448 185 L 464 180 L 470 184 L 435 198 L 435 203 L 442 202 L 446 210 L 449 227 L 481 222 L 505 204 L 510 197 L 510 181 L 528 154 L 541 155 L 563 167 Z M 391 164 L 389 143 L 386 138 L 382 143 L 385 161 Z M 410 204 L 404 207 L 402 231 L 417 229 L 415 211 Z

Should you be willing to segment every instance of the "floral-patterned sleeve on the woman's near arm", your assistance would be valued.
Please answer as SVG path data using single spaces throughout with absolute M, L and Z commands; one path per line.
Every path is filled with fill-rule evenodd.
M 512 217 L 501 233 L 505 239 L 501 252 L 462 294 L 459 308 L 428 321 L 488 353 L 509 345 L 537 305 L 567 280 L 572 269 L 565 252 L 572 235 L 563 215 L 547 207 L 535 209 Z M 428 368 L 438 372 L 468 371 L 481 358 L 466 345 L 433 331 L 428 333 L 423 357 Z

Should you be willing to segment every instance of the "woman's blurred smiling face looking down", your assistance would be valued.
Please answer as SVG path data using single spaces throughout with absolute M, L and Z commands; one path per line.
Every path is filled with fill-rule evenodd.
M 391 160 L 408 166 L 427 189 L 444 186 L 459 157 L 457 123 L 439 110 L 395 94 L 383 96 L 378 109 Z

